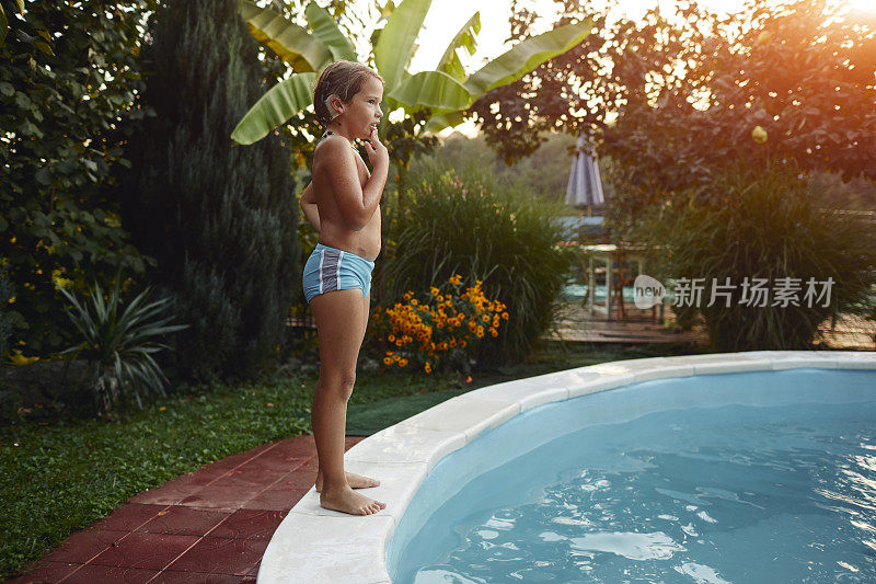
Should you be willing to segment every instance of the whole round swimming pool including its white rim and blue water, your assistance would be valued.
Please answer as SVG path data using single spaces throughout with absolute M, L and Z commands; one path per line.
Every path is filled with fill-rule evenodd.
M 258 582 L 752 582 L 758 565 L 865 581 L 876 556 L 874 369 L 874 354 L 752 352 L 482 388 L 350 449 L 347 467 L 383 480 L 372 496 L 388 508 L 348 517 L 308 493 L 275 533 Z M 851 494 L 827 471 L 812 474 L 828 467 Z M 773 486 L 754 484 L 758 473 Z M 805 509 L 807 473 L 828 482 Z M 774 486 L 785 476 L 787 500 Z M 818 520 L 804 526 L 794 513 Z M 810 554 L 794 556 L 806 546 Z M 724 561 L 740 554 L 742 568 Z

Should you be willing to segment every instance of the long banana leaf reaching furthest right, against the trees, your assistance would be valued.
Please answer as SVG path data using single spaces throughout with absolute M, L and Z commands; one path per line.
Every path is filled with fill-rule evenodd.
M 539 36 L 521 41 L 510 50 L 486 64 L 465 81 L 465 89 L 472 95 L 483 95 L 487 91 L 517 81 L 539 65 L 580 44 L 590 34 L 592 23 L 566 24 Z

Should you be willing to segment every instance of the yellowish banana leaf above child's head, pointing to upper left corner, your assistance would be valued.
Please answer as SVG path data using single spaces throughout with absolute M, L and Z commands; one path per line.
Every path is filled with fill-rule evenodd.
M 269 8 L 261 8 L 251 0 L 238 0 L 238 10 L 250 33 L 274 49 L 296 72 L 319 71 L 332 61 L 332 50 L 320 38 Z

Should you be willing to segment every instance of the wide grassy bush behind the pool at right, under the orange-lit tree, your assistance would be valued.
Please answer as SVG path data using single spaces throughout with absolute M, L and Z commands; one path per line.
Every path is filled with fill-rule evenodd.
M 872 310 L 873 227 L 838 209 L 814 209 L 797 172 L 777 162 L 761 169 L 730 167 L 708 185 L 652 207 L 634 231 L 636 239 L 655 245 L 661 277 L 705 278 L 699 310 L 715 350 L 808 348 L 827 318 Z M 718 297 L 707 307 L 712 278 L 721 285 L 728 277 L 736 286 L 730 306 Z M 740 304 L 746 277 L 766 278 L 766 306 Z M 799 306 L 783 307 L 774 298 L 772 288 L 783 277 L 800 278 Z M 816 301 L 822 291 L 817 285 L 808 306 L 809 278 L 833 279 L 829 301 Z

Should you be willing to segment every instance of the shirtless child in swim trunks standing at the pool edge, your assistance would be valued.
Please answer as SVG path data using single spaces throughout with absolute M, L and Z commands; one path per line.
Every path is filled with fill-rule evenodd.
M 325 134 L 313 153 L 313 180 L 301 197 L 304 216 L 320 233 L 303 274 L 320 344 L 311 411 L 316 491 L 323 507 L 353 515 L 387 507 L 354 491 L 379 481 L 344 471 L 347 401 L 368 324 L 371 271 L 381 244 L 380 197 L 389 172 L 389 153 L 377 134 L 382 98 L 383 79 L 365 65 L 342 60 L 323 70 L 313 104 Z M 357 138 L 368 140 L 373 174 L 354 146 Z

